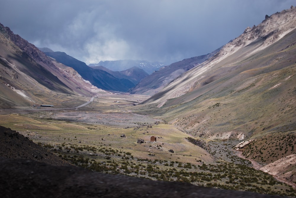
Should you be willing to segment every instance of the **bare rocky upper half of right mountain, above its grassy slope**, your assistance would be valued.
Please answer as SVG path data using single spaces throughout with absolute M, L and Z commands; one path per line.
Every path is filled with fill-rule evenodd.
M 279 57 L 279 53 L 277 52 L 282 52 L 284 56 L 288 56 L 290 59 L 294 57 L 294 54 L 291 55 L 291 53 L 285 53 L 295 45 L 294 35 L 288 34 L 295 30 L 294 19 L 294 7 L 280 13 L 278 12 L 270 17 L 266 16 L 266 19 L 263 20 L 262 23 L 252 28 L 246 28 L 242 35 L 223 46 L 215 56 L 211 57 L 201 65 L 198 65 L 198 67 L 194 67 L 192 70 L 184 73 L 184 75 L 170 83 L 161 91 L 161 93 L 155 95 L 147 102 L 163 102 L 168 99 L 182 96 L 186 93 L 195 91 L 218 78 L 224 77 L 233 71 L 241 72 L 241 70 L 247 71 L 251 69 L 255 69 L 254 71 L 256 71 L 262 67 L 269 67 L 270 69 L 268 71 L 271 71 L 286 67 L 289 64 L 285 64 L 281 68 L 272 67 L 273 65 L 271 64 L 281 61 L 282 57 Z M 290 38 L 287 38 L 287 40 L 283 39 L 278 42 L 279 44 L 275 44 L 276 41 L 279 41 L 286 35 L 290 36 Z M 277 49 L 274 49 L 276 51 L 267 51 L 268 49 L 266 48 L 272 44 L 276 45 L 275 47 Z M 250 66 L 246 65 L 252 61 L 252 59 L 262 56 L 263 53 L 271 56 L 269 62 L 268 60 L 265 60 L 265 65 L 263 65 L 263 63 L 261 63 L 261 65 L 254 63 Z M 293 62 L 290 64 L 292 65 Z M 267 73 L 268 71 L 263 71 L 261 73 Z M 256 74 L 258 73 L 255 73 L 253 76 Z M 250 78 L 250 76 L 246 76 L 245 78 Z M 239 81 L 242 80 L 243 78 L 239 79 Z M 172 87 L 174 88 L 172 89 Z M 192 97 L 186 99 L 186 101 L 188 102 L 191 99 Z

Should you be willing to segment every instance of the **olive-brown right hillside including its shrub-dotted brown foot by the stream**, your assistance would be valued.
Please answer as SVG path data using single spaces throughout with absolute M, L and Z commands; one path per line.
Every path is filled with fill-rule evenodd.
M 160 108 L 151 103 L 133 109 L 198 138 L 255 139 L 241 150 L 262 165 L 295 154 L 296 142 L 291 142 L 296 134 L 295 38 L 293 30 L 253 55 L 245 52 L 252 51 L 255 44 L 246 46 L 203 73 L 188 94 L 170 99 Z M 274 145 L 266 145 L 271 141 Z M 279 175 L 296 182 L 295 165 L 289 163 Z

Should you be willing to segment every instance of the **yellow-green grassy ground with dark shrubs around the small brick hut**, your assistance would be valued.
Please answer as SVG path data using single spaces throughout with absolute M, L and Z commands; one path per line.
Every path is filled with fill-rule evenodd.
M 102 106 L 100 108 L 102 110 Z M 109 108 L 106 105 L 105 110 Z M 71 113 L 74 116 L 77 112 Z M 119 128 L 79 120 L 32 119 L 30 116 L 34 117 L 1 115 L 0 122 L 51 149 L 63 159 L 95 171 L 264 194 L 295 195 L 289 186 L 261 171 L 241 165 L 239 159 L 232 158 L 235 163 L 229 163 L 189 143 L 185 139 L 188 135 L 173 125 L 150 127 L 146 123 L 148 125 Z M 126 137 L 120 137 L 121 134 Z M 149 142 L 152 135 L 157 136 L 157 142 Z M 144 139 L 145 143 L 137 144 L 138 138 Z M 173 149 L 174 153 L 168 152 L 168 149 Z M 225 146 L 218 146 L 219 153 L 224 149 L 226 152 Z

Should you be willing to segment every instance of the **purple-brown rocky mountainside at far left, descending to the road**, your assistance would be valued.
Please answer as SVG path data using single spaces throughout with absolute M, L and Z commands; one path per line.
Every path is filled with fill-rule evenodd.
M 94 96 L 110 94 L 85 81 L 72 68 L 54 62 L 33 44 L 0 24 L 1 108 L 43 103 L 40 93 Z

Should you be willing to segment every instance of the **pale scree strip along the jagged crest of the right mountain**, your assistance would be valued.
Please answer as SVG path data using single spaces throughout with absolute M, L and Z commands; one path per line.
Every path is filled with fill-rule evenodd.
M 192 68 L 189 70 L 187 73 L 184 73 L 182 76 L 180 76 L 177 80 L 175 80 L 175 83 L 179 83 L 182 81 L 181 85 L 186 84 L 186 89 L 180 88 L 175 90 L 175 93 L 178 94 L 173 94 L 170 93 L 172 86 L 175 86 L 174 82 L 170 83 L 165 89 L 162 90 L 162 92 L 165 94 L 165 97 L 161 97 L 159 94 L 157 96 L 157 100 L 154 102 L 163 102 L 168 99 L 172 99 L 175 97 L 179 97 L 183 94 L 186 94 L 189 90 L 192 90 L 194 86 L 198 83 L 200 79 L 197 77 L 200 76 L 199 78 L 202 78 L 202 74 L 205 71 L 209 71 L 211 67 L 216 65 L 218 62 L 221 64 L 222 61 L 226 60 L 226 57 L 229 57 L 231 54 L 234 54 L 237 52 L 239 49 L 242 49 L 243 47 L 246 47 L 245 49 L 248 50 L 248 53 L 246 52 L 240 52 L 238 57 L 236 57 L 234 60 L 231 60 L 231 64 L 234 65 L 234 61 L 240 60 L 242 57 L 246 56 L 251 56 L 254 54 L 256 51 L 254 49 L 264 49 L 270 44 L 278 41 L 280 38 L 282 38 L 284 35 L 295 29 L 295 22 L 292 20 L 287 20 L 287 21 L 282 21 L 281 22 L 281 30 L 279 29 L 279 25 L 277 23 L 277 19 L 280 17 L 280 15 L 284 15 L 290 18 L 295 18 L 295 7 L 292 7 L 289 10 L 283 10 L 282 12 L 277 12 L 270 17 L 266 17 L 265 20 L 263 20 L 262 23 L 259 25 L 253 27 L 253 28 L 246 28 L 244 33 L 240 35 L 239 37 L 235 38 L 228 44 L 224 45 L 218 53 L 216 53 L 213 57 L 210 57 L 208 60 L 203 62 L 199 67 L 202 67 L 202 69 L 199 68 Z M 291 16 L 289 15 L 291 14 Z M 289 16 L 288 16 L 289 15 Z M 269 23 L 269 24 L 268 24 Z M 273 24 L 273 25 L 271 25 Z M 267 27 L 268 30 L 264 30 L 264 27 Z M 258 49 L 258 45 L 260 45 Z M 247 47 L 250 47 L 249 49 Z M 191 73 L 191 74 L 188 74 Z M 185 75 L 188 75 L 188 77 L 185 77 Z M 184 81 L 184 78 L 186 80 Z M 170 95 L 170 96 L 169 96 Z M 156 98 L 156 97 L 153 97 Z M 149 102 L 152 102 L 154 99 L 149 100 Z M 147 101 L 148 102 L 148 101 Z

